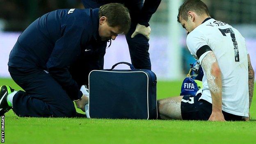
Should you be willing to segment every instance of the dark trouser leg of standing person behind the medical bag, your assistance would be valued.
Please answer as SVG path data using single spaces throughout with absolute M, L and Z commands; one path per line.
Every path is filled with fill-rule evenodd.
M 129 46 L 130 58 L 136 69 L 151 70 L 149 57 L 149 40 L 142 34 L 137 34 L 134 38 L 131 35 L 136 29 L 137 23 L 132 22 L 129 32 L 126 34 L 126 41 Z

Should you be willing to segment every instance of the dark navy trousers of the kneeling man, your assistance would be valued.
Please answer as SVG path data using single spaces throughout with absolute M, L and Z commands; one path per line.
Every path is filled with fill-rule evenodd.
M 74 117 L 73 101 L 43 69 L 9 67 L 11 78 L 24 91 L 13 98 L 13 111 L 20 117 Z

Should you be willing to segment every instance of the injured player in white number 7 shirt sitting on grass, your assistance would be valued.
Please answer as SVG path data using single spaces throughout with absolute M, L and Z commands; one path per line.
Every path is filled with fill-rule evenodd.
M 187 47 L 203 69 L 202 92 L 158 101 L 162 119 L 249 120 L 254 70 L 245 38 L 231 25 L 210 17 L 201 0 L 179 7 L 178 22 L 187 31 Z M 184 83 L 184 89 L 192 84 Z

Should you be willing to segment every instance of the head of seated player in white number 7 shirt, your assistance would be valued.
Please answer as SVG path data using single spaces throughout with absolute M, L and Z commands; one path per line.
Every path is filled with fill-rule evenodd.
M 177 20 L 188 32 L 210 17 L 208 7 L 201 0 L 187 0 L 178 9 Z

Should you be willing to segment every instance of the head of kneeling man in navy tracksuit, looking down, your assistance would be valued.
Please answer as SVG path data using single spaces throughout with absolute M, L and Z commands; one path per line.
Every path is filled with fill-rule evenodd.
M 114 40 L 117 34 L 126 34 L 130 29 L 130 14 L 122 4 L 109 3 L 101 6 L 99 16 L 99 35 L 102 40 Z

